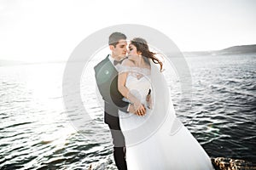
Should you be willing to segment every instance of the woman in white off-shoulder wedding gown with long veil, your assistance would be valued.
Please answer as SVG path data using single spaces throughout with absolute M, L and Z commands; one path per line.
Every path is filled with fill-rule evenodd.
M 136 108 L 146 108 L 145 115 L 119 111 L 128 169 L 213 169 L 206 151 L 177 119 L 162 63 L 147 42 L 134 38 L 128 54 L 119 65 L 119 92 Z

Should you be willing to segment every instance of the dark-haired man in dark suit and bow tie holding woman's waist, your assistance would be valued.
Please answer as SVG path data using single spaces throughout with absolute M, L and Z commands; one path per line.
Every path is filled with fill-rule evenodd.
M 118 90 L 119 65 L 127 52 L 126 36 L 120 32 L 113 32 L 108 39 L 108 45 L 112 54 L 97 64 L 95 69 L 96 84 L 104 100 L 104 122 L 108 124 L 113 138 L 113 157 L 119 170 L 126 170 L 125 138 L 119 126 L 119 110 L 138 114 L 145 114 L 145 108 L 135 106 L 123 101 L 124 98 Z

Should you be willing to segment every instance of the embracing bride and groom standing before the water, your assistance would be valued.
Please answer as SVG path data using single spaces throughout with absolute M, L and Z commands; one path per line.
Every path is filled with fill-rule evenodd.
M 201 145 L 177 119 L 163 64 L 143 38 L 113 32 L 111 54 L 95 66 L 104 122 L 119 170 L 213 169 Z

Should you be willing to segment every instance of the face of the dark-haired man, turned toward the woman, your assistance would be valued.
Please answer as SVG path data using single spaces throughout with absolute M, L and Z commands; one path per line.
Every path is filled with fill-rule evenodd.
M 127 53 L 127 42 L 124 39 L 119 40 L 119 42 L 114 47 L 113 45 L 110 45 L 110 49 L 112 51 L 112 57 L 114 59 L 122 59 L 125 57 Z

